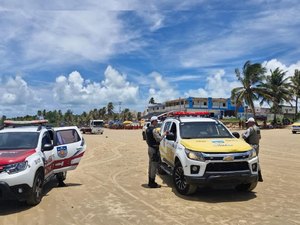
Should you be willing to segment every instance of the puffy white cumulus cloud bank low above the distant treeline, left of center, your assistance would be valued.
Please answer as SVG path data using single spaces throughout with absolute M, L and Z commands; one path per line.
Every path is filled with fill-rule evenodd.
M 131 84 L 126 75 L 108 66 L 101 82 L 84 80 L 77 71 L 56 78 L 54 98 L 61 104 L 103 105 L 108 102 L 136 103 L 139 87 Z

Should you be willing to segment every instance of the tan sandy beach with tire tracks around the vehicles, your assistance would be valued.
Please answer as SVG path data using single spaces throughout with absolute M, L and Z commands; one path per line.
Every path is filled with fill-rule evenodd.
M 188 197 L 167 175 L 157 178 L 162 188 L 146 187 L 141 130 L 105 129 L 84 138 L 87 151 L 67 186 L 47 183 L 36 207 L 0 201 L 0 225 L 300 224 L 300 134 L 290 129 L 262 130 L 264 182 L 253 192 L 200 189 Z

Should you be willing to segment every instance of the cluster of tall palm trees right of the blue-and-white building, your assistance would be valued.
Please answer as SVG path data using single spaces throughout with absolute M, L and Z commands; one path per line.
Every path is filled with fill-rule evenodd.
M 236 103 L 236 108 L 242 104 L 250 107 L 255 117 L 254 101 L 259 101 L 260 105 L 268 103 L 271 111 L 274 113 L 274 123 L 277 123 L 276 115 L 280 113 L 280 105 L 296 102 L 296 113 L 294 120 L 297 119 L 298 99 L 300 97 L 300 73 L 295 70 L 294 76 L 288 76 L 287 72 L 282 71 L 279 67 L 270 75 L 265 75 L 266 69 L 260 64 L 251 64 L 247 61 L 242 72 L 235 70 L 241 87 L 232 89 L 231 99 Z M 295 97 L 295 99 L 294 99 Z

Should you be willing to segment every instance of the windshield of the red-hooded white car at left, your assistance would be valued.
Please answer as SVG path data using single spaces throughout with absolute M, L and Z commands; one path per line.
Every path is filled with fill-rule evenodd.
M 0 150 L 33 149 L 38 143 L 38 132 L 0 133 Z

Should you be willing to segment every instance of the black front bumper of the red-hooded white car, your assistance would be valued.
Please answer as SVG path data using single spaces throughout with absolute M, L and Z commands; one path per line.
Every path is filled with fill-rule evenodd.
M 31 192 L 31 188 L 27 184 L 9 186 L 6 182 L 0 181 L 0 199 L 25 200 Z

